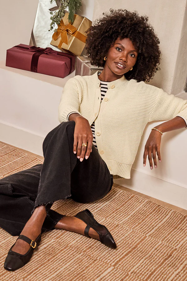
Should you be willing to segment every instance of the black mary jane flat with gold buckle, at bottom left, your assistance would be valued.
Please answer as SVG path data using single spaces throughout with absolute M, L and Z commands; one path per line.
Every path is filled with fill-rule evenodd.
M 25 235 L 19 235 L 17 239 L 22 239 L 28 244 L 30 244 L 31 248 L 26 252 L 26 254 L 18 254 L 14 251 L 12 251 L 13 246 L 16 244 L 16 242 L 12 245 L 10 250 L 8 251 L 7 257 L 4 262 L 4 269 L 8 271 L 14 271 L 21 267 L 23 267 L 25 264 L 27 264 L 34 252 L 34 250 L 38 249 L 38 246 L 41 242 L 41 234 L 36 238 L 36 240 L 31 240 Z M 17 240 L 16 240 L 17 241 Z

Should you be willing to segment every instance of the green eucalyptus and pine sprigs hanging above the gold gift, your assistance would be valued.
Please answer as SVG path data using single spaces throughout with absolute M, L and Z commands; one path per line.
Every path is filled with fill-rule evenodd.
M 65 10 L 68 7 L 69 15 L 68 15 L 68 22 L 74 22 L 74 13 L 76 10 L 79 9 L 81 4 L 81 0 L 50 0 L 50 3 L 56 2 L 57 7 L 54 12 L 50 12 L 51 14 L 51 23 L 50 23 L 50 30 L 53 30 L 55 24 L 60 24 L 61 19 L 65 16 Z M 54 30 L 56 32 L 57 29 Z

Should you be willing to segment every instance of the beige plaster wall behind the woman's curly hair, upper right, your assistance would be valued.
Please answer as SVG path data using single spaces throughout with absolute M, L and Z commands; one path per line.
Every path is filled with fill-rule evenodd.
M 177 95 L 183 90 L 187 76 L 185 6 L 186 0 L 95 0 L 93 21 L 110 8 L 137 10 L 140 15 L 148 15 L 160 39 L 162 52 L 161 70 L 150 84 Z

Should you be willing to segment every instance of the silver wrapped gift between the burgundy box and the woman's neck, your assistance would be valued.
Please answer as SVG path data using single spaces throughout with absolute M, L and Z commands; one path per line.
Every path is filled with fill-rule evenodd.
M 77 57 L 75 75 L 92 75 L 98 70 L 103 70 L 103 68 L 91 65 L 88 57 Z

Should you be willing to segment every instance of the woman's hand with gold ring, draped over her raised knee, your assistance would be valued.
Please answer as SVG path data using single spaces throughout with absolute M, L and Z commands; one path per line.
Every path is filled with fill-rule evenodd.
M 87 142 L 87 146 L 82 146 L 83 143 Z M 84 156 L 85 159 L 88 159 L 90 152 L 92 152 L 92 144 L 93 133 L 89 121 L 82 116 L 78 116 L 75 121 L 73 151 L 74 153 L 77 152 L 77 158 L 80 158 L 80 161 L 83 161 Z

